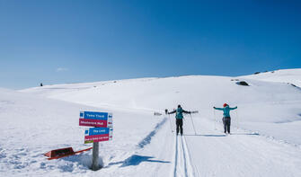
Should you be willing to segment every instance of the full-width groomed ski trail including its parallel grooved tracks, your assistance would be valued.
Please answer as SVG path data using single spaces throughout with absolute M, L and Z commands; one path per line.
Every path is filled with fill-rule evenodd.
M 213 129 L 214 121 L 199 117 L 193 120 L 197 135 L 186 119 L 182 137 L 176 137 L 170 125 L 159 120 L 158 124 L 164 123 L 156 129 L 152 140 L 137 148 L 137 165 L 117 168 L 118 174 L 129 169 L 133 170 L 127 173 L 130 176 L 140 176 L 143 172 L 145 176 L 173 177 L 298 177 L 301 173 L 301 150 L 295 146 L 235 127 L 232 135 L 226 136 L 222 124 L 218 123 L 217 129 Z

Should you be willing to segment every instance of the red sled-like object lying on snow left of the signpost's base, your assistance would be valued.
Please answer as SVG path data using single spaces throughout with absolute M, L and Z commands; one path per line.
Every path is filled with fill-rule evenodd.
M 83 153 L 84 151 L 89 151 L 92 148 L 93 147 L 89 147 L 89 148 L 75 152 L 72 147 L 66 147 L 66 148 L 49 151 L 48 153 L 46 153 L 44 155 L 49 157 L 49 158 L 47 158 L 48 160 L 52 160 L 52 159 L 58 159 L 58 158 L 62 158 L 62 157 L 70 156 L 70 155 L 77 155 L 77 154 Z

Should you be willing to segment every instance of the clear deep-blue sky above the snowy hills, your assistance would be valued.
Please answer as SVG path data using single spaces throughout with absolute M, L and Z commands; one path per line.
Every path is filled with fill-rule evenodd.
M 0 87 L 301 67 L 301 1 L 0 0 Z

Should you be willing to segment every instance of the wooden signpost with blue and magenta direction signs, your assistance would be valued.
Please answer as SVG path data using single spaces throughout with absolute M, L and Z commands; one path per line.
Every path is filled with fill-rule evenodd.
M 84 144 L 93 143 L 92 170 L 99 170 L 99 142 L 112 140 L 112 113 L 80 111 L 79 126 L 88 126 L 84 131 Z

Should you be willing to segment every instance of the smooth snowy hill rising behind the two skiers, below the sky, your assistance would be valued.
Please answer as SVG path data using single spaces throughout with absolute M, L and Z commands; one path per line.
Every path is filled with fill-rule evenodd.
M 211 120 L 215 119 L 212 107 L 221 107 L 227 102 L 239 107 L 238 114 L 233 116 L 239 118 L 235 118 L 235 124 L 239 123 L 240 127 L 289 140 L 293 144 L 301 144 L 295 128 L 296 124 L 299 125 L 301 114 L 299 88 L 253 78 L 243 78 L 251 86 L 242 86 L 235 84 L 237 81 L 234 79 L 190 75 L 94 84 L 50 85 L 22 92 L 124 111 L 164 111 L 164 108 L 171 110 L 181 104 L 184 109 L 198 110 L 203 119 Z M 221 112 L 216 113 L 220 119 Z M 278 130 L 274 131 L 276 128 Z

